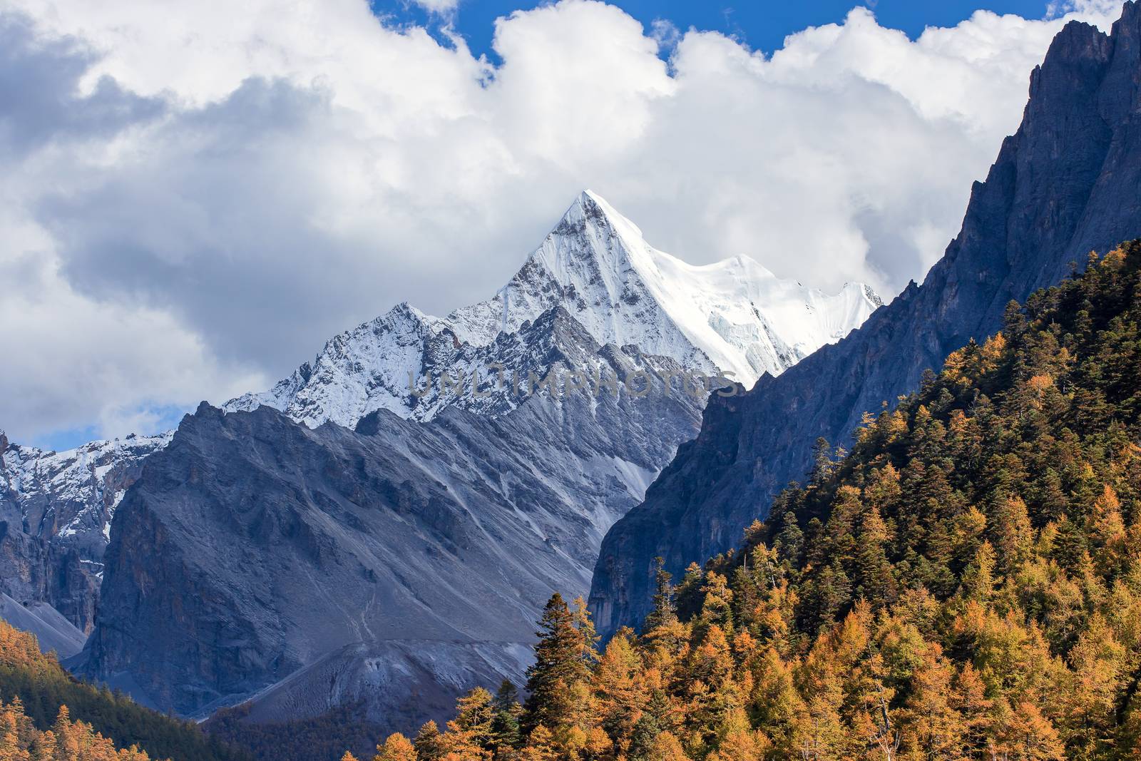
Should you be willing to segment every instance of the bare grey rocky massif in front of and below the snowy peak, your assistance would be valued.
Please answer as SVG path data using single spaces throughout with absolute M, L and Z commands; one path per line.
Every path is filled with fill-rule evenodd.
M 542 375 L 679 373 L 551 309 L 500 335 Z M 520 347 L 528 347 L 521 351 Z M 701 397 L 548 390 L 502 415 L 386 410 L 350 430 L 203 405 L 114 521 L 75 669 L 163 710 L 254 720 L 364 701 L 404 728 L 524 678 L 536 612 L 584 594 L 606 527 L 697 429 Z

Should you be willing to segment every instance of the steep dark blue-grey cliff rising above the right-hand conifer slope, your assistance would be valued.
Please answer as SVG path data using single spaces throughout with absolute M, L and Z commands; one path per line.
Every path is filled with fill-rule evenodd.
M 591 590 L 600 631 L 641 622 L 655 557 L 677 574 L 733 547 L 803 477 L 817 437 L 847 440 L 865 411 L 995 332 L 1011 299 L 1139 235 L 1141 5 L 1130 2 L 1111 35 L 1071 23 L 1054 39 L 1018 132 L 974 185 L 962 232 L 922 285 L 747 395 L 712 399 L 697 439 L 602 543 Z

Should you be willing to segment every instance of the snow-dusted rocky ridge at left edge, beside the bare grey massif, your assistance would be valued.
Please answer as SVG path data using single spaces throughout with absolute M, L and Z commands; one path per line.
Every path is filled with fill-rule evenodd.
M 90 442 L 65 452 L 0 431 L 0 592 L 48 604 L 82 630 L 94 620 L 111 519 L 143 459 L 171 434 Z

